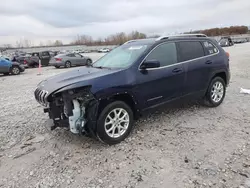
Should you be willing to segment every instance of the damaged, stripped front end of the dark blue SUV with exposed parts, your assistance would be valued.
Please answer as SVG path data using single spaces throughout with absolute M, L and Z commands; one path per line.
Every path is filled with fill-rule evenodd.
M 89 88 L 52 95 L 37 89 L 35 98 L 45 107 L 44 112 L 53 120 L 51 130 L 66 127 L 74 134 L 95 136 L 99 102 Z

